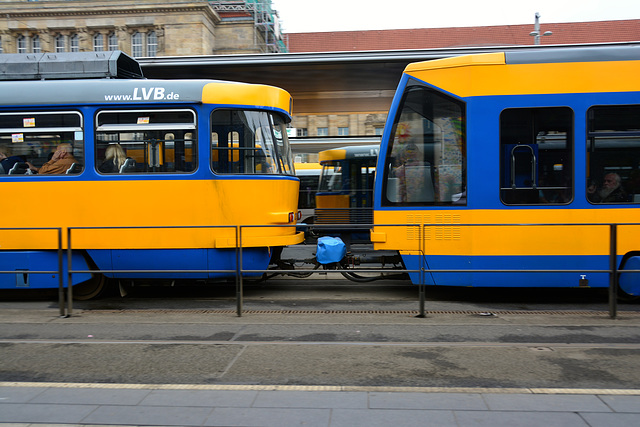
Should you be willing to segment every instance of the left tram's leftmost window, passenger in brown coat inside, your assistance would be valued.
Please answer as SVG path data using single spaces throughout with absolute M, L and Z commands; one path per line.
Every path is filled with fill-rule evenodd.
M 82 172 L 83 165 L 80 112 L 0 113 L 0 174 L 75 175 Z

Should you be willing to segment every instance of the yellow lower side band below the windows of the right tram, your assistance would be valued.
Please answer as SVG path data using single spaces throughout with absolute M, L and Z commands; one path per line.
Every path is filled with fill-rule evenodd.
M 639 220 L 636 209 L 523 209 L 376 211 L 374 222 L 387 225 L 426 224 L 424 228 L 378 225 L 372 232 L 375 249 L 482 256 L 605 255 L 609 253 L 608 224 Z M 585 223 L 597 225 L 580 225 Z M 638 242 L 640 225 L 618 226 L 618 254 L 638 250 Z

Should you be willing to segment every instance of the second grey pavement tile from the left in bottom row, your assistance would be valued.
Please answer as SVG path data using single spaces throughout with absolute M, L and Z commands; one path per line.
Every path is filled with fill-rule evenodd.
M 140 426 L 201 426 L 209 414 L 211 408 L 105 405 L 83 418 L 82 422 Z

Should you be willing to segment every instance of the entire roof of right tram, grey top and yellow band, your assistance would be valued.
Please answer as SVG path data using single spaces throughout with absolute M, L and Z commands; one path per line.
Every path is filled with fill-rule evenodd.
M 467 55 L 405 74 L 460 97 L 640 91 L 640 43 Z

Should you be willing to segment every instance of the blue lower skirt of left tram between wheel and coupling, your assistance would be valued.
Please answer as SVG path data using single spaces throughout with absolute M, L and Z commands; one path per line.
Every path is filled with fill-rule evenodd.
M 221 279 L 235 277 L 236 270 L 235 249 L 105 249 L 88 253 L 105 276 L 118 279 Z M 243 249 L 242 258 L 243 270 L 266 270 L 271 254 L 268 248 L 247 248 Z M 145 272 L 109 273 L 109 270 Z M 245 273 L 244 277 L 260 275 Z

